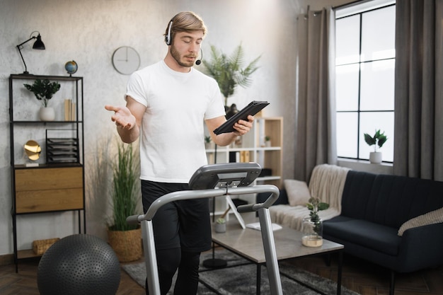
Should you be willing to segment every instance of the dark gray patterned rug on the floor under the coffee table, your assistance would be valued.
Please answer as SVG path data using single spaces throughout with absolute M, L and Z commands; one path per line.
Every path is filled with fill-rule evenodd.
M 197 295 L 234 295 L 255 294 L 255 277 L 257 267 L 228 250 L 217 250 L 215 258 L 226 260 L 228 266 L 221 269 L 207 269 L 202 262 L 211 259 L 212 252 L 202 253 L 200 259 L 200 283 Z M 146 281 L 146 266 L 144 263 L 133 263 L 122 266 L 125 272 L 137 283 L 144 287 Z M 337 283 L 325 279 L 311 272 L 300 270 L 287 262 L 280 262 L 280 278 L 282 281 L 283 294 L 302 295 L 335 295 Z M 261 294 L 270 294 L 270 286 L 267 278 L 266 267 L 261 268 Z M 175 278 L 173 280 L 175 282 Z M 173 287 L 168 294 L 173 294 Z M 316 290 L 316 291 L 314 291 Z M 358 295 L 342 287 L 343 295 Z

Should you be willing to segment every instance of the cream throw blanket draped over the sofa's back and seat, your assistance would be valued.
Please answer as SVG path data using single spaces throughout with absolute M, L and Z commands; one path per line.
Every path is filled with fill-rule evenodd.
M 322 164 L 313 168 L 309 181 L 309 192 L 312 197 L 319 197 L 321 202 L 327 202 L 329 209 L 318 213 L 321 219 L 328 220 L 340 215 L 341 197 L 349 168 Z M 280 204 L 270 207 L 271 221 L 301 231 L 303 219 L 309 216 L 306 206 Z

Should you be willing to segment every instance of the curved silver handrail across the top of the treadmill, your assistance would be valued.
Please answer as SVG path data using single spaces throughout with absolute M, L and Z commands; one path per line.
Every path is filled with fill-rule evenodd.
M 277 201 L 280 190 L 275 185 L 253 185 L 248 187 L 229 187 L 226 191 L 225 188 L 207 189 L 207 190 L 180 190 L 178 192 L 170 192 L 156 199 L 146 214 L 132 215 L 127 217 L 128 224 L 138 224 L 144 220 L 152 220 L 157 210 L 164 204 L 175 202 L 183 199 L 202 199 L 205 197 L 219 197 L 223 195 L 246 195 L 260 192 L 271 192 L 271 195 L 263 203 L 247 204 L 239 206 L 238 212 L 252 212 L 258 211 L 260 208 L 269 208 Z

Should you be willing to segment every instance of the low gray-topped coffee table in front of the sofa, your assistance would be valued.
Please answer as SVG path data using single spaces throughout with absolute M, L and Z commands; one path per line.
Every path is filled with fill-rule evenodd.
M 308 255 L 319 255 L 337 252 L 338 274 L 337 274 L 337 295 L 341 294 L 343 248 L 344 246 L 328 241 L 323 238 L 321 247 L 306 247 L 301 245 L 301 236 L 303 233 L 282 226 L 282 229 L 273 231 L 275 240 L 275 250 L 277 260 L 286 260 L 289 258 L 299 258 Z M 265 265 L 265 251 L 263 250 L 263 241 L 261 231 L 255 229 L 242 229 L 236 220 L 230 220 L 226 224 L 225 233 L 216 233 L 212 231 L 212 241 L 223 248 L 230 250 L 242 258 L 246 258 L 257 265 L 257 294 L 260 294 L 261 265 Z M 318 290 L 315 290 L 318 291 Z M 321 293 L 321 291 L 318 291 Z

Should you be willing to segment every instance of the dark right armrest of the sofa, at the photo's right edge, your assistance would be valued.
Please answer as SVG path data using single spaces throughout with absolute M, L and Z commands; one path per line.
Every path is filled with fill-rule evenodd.
M 443 264 L 443 223 L 408 229 L 403 233 L 398 272 L 413 272 Z

